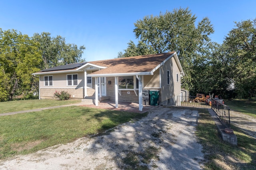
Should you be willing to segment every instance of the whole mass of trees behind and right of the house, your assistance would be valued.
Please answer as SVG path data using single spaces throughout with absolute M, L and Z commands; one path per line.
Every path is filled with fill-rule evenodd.
M 186 9 L 145 16 L 134 23 L 136 45 L 128 42 L 120 57 L 176 51 L 184 70 L 182 88 L 223 97 L 256 96 L 256 19 L 235 22 L 223 44 L 212 42 L 213 25 Z

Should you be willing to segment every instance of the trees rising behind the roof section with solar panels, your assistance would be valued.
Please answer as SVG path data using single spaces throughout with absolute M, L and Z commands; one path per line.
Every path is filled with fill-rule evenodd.
M 84 45 L 78 47 L 75 44 L 66 43 L 65 38 L 58 35 L 51 37 L 50 33 L 34 33 L 32 39 L 39 43 L 42 68 L 51 68 L 58 65 L 83 62 L 82 54 Z

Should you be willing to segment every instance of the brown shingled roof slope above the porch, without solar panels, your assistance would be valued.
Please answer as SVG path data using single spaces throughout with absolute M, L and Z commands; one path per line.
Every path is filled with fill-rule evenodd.
M 88 62 L 107 67 L 90 75 L 150 72 L 172 54 L 174 52 Z

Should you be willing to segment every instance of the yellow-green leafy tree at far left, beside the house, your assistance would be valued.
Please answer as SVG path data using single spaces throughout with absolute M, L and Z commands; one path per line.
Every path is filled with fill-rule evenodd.
M 38 43 L 14 29 L 0 29 L 0 101 L 37 91 L 38 78 L 32 73 L 40 70 L 41 62 Z

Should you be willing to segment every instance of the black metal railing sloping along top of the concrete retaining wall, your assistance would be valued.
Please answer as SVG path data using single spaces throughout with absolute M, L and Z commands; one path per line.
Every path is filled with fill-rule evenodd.
M 215 111 L 221 121 L 225 123 L 228 128 L 230 128 L 230 107 L 224 105 L 223 102 L 212 99 L 211 108 Z

